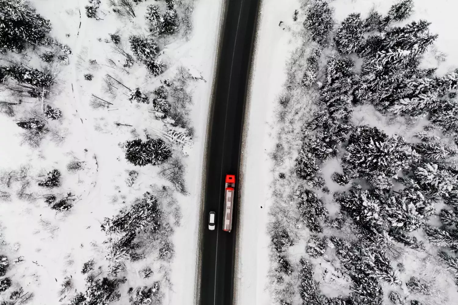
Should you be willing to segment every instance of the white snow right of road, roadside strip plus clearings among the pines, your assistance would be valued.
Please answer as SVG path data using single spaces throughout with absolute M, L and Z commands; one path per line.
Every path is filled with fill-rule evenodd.
M 243 173 L 241 173 L 243 175 L 241 177 L 243 189 L 240 202 L 240 231 L 238 233 L 240 246 L 237 253 L 236 284 L 234 287 L 236 304 L 239 305 L 265 305 L 275 302 L 273 299 L 274 288 L 270 282 L 270 280 L 273 281 L 273 278 L 269 278 L 272 276 L 271 268 L 273 265 L 269 260 L 269 253 L 272 249 L 269 246 L 271 241 L 267 235 L 267 225 L 272 219 L 269 213 L 272 213 L 271 208 L 273 198 L 275 198 L 273 182 L 277 178 L 277 172 L 274 173 L 273 171 L 274 165 L 271 154 L 278 142 L 278 128 L 281 125 L 278 123 L 278 96 L 284 86 L 286 67 L 289 59 L 291 59 L 291 52 L 296 48 L 298 38 L 300 39 L 299 22 L 294 23 L 292 17 L 294 10 L 299 10 L 300 3 L 305 2 L 307 1 L 261 1 L 260 21 L 254 51 L 254 72 L 251 75 L 249 103 L 245 117 L 247 127 L 245 128 L 243 143 Z M 361 17 L 365 18 L 372 8 L 384 15 L 395 2 L 398 1 L 329 1 L 335 9 L 333 17 L 336 23 L 343 21 L 352 12 L 360 12 Z M 399 23 L 403 25 L 420 19 L 431 22 L 431 32 L 439 34 L 439 37 L 434 43 L 435 48 L 425 56 L 422 65 L 438 67 L 437 73 L 439 75 L 450 72 L 458 66 L 458 40 L 454 35 L 455 18 L 453 16 L 457 7 L 457 4 L 450 0 L 414 0 L 413 15 Z M 301 16 L 299 20 L 301 20 L 300 18 Z M 283 23 L 279 26 L 280 21 Z M 301 22 L 299 26 L 301 26 Z M 444 55 L 446 56 L 444 57 Z M 304 100 L 304 102 L 307 101 Z M 376 112 L 372 106 L 367 105 L 355 109 L 353 120 L 357 125 L 376 126 L 390 135 L 402 134 L 408 140 L 411 140 L 414 132 L 418 131 L 425 123 L 420 121 L 417 128 L 412 129 L 407 128 L 403 119 L 400 118 L 393 124 L 393 122 L 387 122 L 387 118 Z M 289 129 L 289 131 L 294 130 L 297 128 Z M 291 168 L 292 161 L 296 155 L 297 151 L 292 152 L 286 161 L 290 164 L 289 170 L 291 171 L 293 171 Z M 341 171 L 338 169 L 339 166 L 335 159 L 327 161 L 323 168 L 323 177 L 327 183 L 330 182 L 337 186 L 330 181 L 329 176 L 333 171 Z M 338 187 L 331 191 L 337 190 Z M 332 207 L 327 206 L 327 208 L 332 212 Z M 305 245 L 303 242 L 299 242 L 299 245 L 296 244 L 293 248 L 289 251 L 290 258 L 293 263 L 297 264 L 299 258 L 305 254 Z M 427 259 L 414 257 L 410 251 L 406 254 L 406 260 L 407 262 L 410 260 L 408 264 L 409 274 L 421 274 L 426 278 L 430 278 L 430 276 L 433 278 L 437 272 Z M 419 263 L 420 261 L 422 263 Z M 421 264 L 424 264 L 425 268 L 416 269 Z M 316 271 L 316 273 L 319 272 L 319 270 Z M 320 282 L 322 292 L 327 296 L 337 296 L 338 294 L 333 292 L 333 289 L 337 291 L 342 287 L 337 287 L 336 282 L 333 282 L 334 284 L 325 282 L 326 279 Z M 446 291 L 453 289 L 453 281 L 448 276 L 444 276 L 442 282 L 437 281 L 436 284 L 437 287 L 440 287 L 438 289 L 446 289 Z M 456 294 L 450 290 L 445 295 L 443 300 L 447 300 L 449 302 L 447 304 L 453 304 L 453 298 L 456 297 Z M 300 300 L 287 301 L 291 304 L 302 304 Z

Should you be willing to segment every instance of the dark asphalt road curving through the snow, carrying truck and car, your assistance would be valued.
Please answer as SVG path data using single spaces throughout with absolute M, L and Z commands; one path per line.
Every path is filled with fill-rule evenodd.
M 198 292 L 201 305 L 229 305 L 233 299 L 237 200 L 233 210 L 232 231 L 224 232 L 224 177 L 226 174 L 239 176 L 242 118 L 258 7 L 259 0 L 228 0 L 225 8 L 207 138 Z M 235 198 L 238 187 L 237 183 Z M 214 231 L 208 230 L 210 211 L 217 214 Z

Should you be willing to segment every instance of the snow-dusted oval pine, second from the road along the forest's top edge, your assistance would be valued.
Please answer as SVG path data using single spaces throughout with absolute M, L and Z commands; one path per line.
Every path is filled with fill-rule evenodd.
M 363 45 L 363 32 L 360 13 L 352 13 L 347 16 L 334 36 L 338 51 L 344 54 L 358 52 Z

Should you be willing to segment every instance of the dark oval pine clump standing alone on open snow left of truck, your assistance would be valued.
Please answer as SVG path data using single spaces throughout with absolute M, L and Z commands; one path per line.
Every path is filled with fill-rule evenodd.
M 172 155 L 169 145 L 162 139 L 135 139 L 121 144 L 125 150 L 125 158 L 134 165 L 159 165 L 167 161 Z

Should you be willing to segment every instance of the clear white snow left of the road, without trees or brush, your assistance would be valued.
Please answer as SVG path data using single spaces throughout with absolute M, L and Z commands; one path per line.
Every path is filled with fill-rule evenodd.
M 47 101 L 63 112 L 59 122 L 49 122 L 53 129 L 65 135 L 62 142 L 45 138 L 39 148 L 22 144 L 22 130 L 14 119 L 26 116 L 27 108 L 18 107 L 16 118 L 1 114 L 0 119 L 0 128 L 8 131 L 0 134 L 0 169 L 14 171 L 26 166 L 27 180 L 32 185 L 30 191 L 38 198 L 26 202 L 13 197 L 11 201 L 0 202 L 0 243 L 3 243 L 0 254 L 6 254 L 10 260 L 7 276 L 13 280 L 13 286 L 22 286 L 24 292 L 33 294 L 31 304 L 59 304 L 61 284 L 67 276 L 72 278 L 72 291 L 64 295 L 67 299 L 63 302 L 69 303 L 74 291 L 84 291 L 83 263 L 94 259 L 96 268 L 100 266 L 102 270 L 107 265 L 109 236 L 100 228 L 104 217 L 113 217 L 136 198 L 141 198 L 143 193 L 151 191 L 150 185 L 170 185 L 159 176 L 157 166 L 139 167 L 128 163 L 118 146 L 125 140 L 144 137 L 143 130 L 152 137 L 164 136 L 166 125 L 154 117 L 150 105 L 129 102 L 125 95 L 128 91 L 121 89 L 115 91 L 116 96 L 109 96 L 102 88 L 104 75 L 115 77 L 131 89 L 140 87 L 142 91 L 152 91 L 164 80 L 173 79 L 180 66 L 189 69 L 196 80 L 189 80 L 187 89 L 193 101 L 189 108 L 194 128 L 193 143 L 184 150 L 188 194 L 175 192 L 178 203 L 169 207 L 177 211 L 171 219 L 180 219 L 180 225 L 173 226 L 174 257 L 170 264 L 160 262 L 154 254 L 140 262 L 127 262 L 122 274 L 127 276 L 127 283 L 120 292 L 123 300 L 129 287 L 161 281 L 164 304 L 194 302 L 202 162 L 223 2 L 198 0 L 194 3 L 194 28 L 189 39 L 171 37 L 159 42 L 159 56 L 167 70 L 153 77 L 142 64 L 134 64 L 129 74 L 119 69 L 121 58 L 114 52 L 109 37 L 110 33 L 117 32 L 129 52 L 127 37 L 148 33 L 144 17 L 148 1 L 135 5 L 134 19 L 116 16 L 108 1 L 103 1 L 98 9 L 101 20 L 85 16 L 87 1 L 32 1 L 37 13 L 51 21 L 50 36 L 67 44 L 72 54 L 68 66 L 55 66 L 57 85 Z M 36 59 L 27 64 L 34 68 L 44 66 Z M 93 80 L 85 80 L 86 73 L 93 74 Z M 92 95 L 114 105 L 108 109 L 93 109 L 90 107 Z M 118 128 L 115 122 L 128 126 Z M 82 169 L 68 172 L 66 165 L 75 160 L 82 162 Z M 58 193 L 75 195 L 70 212 L 56 213 L 50 209 L 39 199 L 49 192 L 34 186 L 44 173 L 54 168 L 63 173 Z M 132 187 L 125 183 L 130 170 L 138 171 Z M 17 257 L 21 259 L 14 263 Z M 147 266 L 152 268 L 153 275 L 143 278 L 140 270 Z

